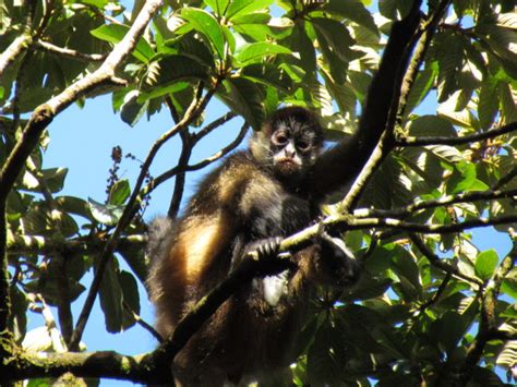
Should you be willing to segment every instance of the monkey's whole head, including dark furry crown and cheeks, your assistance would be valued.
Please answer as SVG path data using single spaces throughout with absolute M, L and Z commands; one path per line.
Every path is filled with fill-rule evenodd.
M 317 117 L 301 107 L 277 110 L 250 141 L 253 157 L 288 183 L 297 183 L 305 176 L 322 146 L 323 130 Z

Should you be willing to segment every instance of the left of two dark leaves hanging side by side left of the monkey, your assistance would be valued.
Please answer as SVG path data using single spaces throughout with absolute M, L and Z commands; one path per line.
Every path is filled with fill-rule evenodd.
M 104 312 L 106 330 L 118 334 L 122 330 L 122 288 L 119 282 L 119 268 L 111 256 L 105 267 L 99 289 L 100 307 Z

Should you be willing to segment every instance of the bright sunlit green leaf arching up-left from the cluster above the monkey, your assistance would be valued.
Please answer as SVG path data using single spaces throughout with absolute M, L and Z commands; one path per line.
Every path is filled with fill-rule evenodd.
M 183 8 L 181 17 L 201 33 L 216 51 L 220 59 L 225 58 L 225 34 L 217 20 L 206 11 L 195 8 Z

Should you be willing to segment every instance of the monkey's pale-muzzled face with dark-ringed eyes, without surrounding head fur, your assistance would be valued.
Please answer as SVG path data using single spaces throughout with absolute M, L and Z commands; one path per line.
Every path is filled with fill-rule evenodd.
M 297 181 L 314 164 L 321 148 L 315 132 L 293 118 L 275 122 L 269 138 L 273 170 L 281 179 Z

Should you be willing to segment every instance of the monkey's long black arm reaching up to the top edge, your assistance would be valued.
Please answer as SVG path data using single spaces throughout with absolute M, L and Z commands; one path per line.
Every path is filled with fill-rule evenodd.
M 358 131 L 316 161 L 308 184 L 316 201 L 324 199 L 358 176 L 389 126 L 392 101 L 399 97 L 401 78 L 412 49 L 411 38 L 420 22 L 419 7 L 420 2 L 414 1 L 411 12 L 392 27 L 378 71 L 369 88 Z

